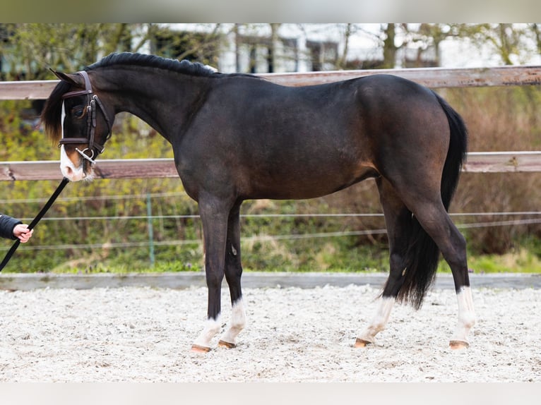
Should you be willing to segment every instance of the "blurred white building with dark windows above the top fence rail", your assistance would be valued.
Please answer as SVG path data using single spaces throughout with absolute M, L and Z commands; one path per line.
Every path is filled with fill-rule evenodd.
M 283 73 L 383 68 L 381 25 L 361 24 L 347 38 L 345 24 L 161 24 L 146 52 L 204 61 L 224 73 Z M 361 27 L 362 26 L 362 27 Z M 212 45 L 189 52 L 187 38 L 213 32 Z M 345 49 L 347 47 L 347 49 Z M 402 47 L 393 67 L 437 66 L 432 48 Z

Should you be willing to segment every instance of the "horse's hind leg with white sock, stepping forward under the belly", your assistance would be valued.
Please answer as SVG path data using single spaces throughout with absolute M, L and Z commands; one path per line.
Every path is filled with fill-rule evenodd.
M 358 335 L 355 347 L 364 347 L 374 343 L 376 334 L 385 329 L 391 315 L 396 296 L 403 284 L 405 254 L 410 239 L 411 212 L 396 195 L 391 185 L 385 179 L 377 179 L 381 205 L 384 209 L 387 227 L 390 272 L 376 310 L 368 327 Z

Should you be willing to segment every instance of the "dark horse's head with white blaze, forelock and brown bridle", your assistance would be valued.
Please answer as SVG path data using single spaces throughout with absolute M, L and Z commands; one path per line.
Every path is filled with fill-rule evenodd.
M 114 111 L 93 91 L 87 72 L 53 73 L 61 81 L 42 112 L 45 131 L 59 140 L 62 174 L 71 181 L 91 180 L 94 160 L 111 136 Z

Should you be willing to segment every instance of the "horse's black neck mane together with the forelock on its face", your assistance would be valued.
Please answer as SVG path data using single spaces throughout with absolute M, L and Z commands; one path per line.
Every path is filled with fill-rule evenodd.
M 105 58 L 102 60 L 95 62 L 95 64 L 86 66 L 84 70 L 93 71 L 95 69 L 117 65 L 146 66 L 150 68 L 159 68 L 167 71 L 183 73 L 186 75 L 196 75 L 208 78 L 219 78 L 232 75 L 256 77 L 242 73 L 217 73 L 212 68 L 200 64 L 199 62 L 194 63 L 186 60 L 178 61 L 176 59 L 165 59 L 160 56 L 136 54 L 131 52 L 110 54 L 109 56 L 105 56 Z M 52 140 L 59 140 L 61 138 L 60 114 L 62 107 L 62 95 L 64 95 L 69 88 L 70 85 L 61 80 L 60 83 L 54 87 L 51 95 L 49 95 L 41 114 L 41 121 L 44 124 L 45 133 L 47 133 L 49 138 Z

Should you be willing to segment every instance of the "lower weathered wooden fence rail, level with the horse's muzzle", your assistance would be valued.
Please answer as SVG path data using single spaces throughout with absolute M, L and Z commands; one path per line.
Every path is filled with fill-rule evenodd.
M 468 173 L 519 173 L 541 171 L 541 151 L 470 152 L 463 171 Z M 102 159 L 96 164 L 98 178 L 177 178 L 173 159 Z M 59 161 L 0 162 L 0 181 L 60 180 Z

